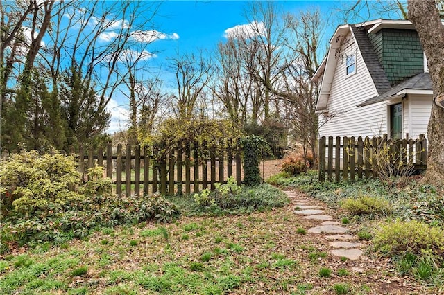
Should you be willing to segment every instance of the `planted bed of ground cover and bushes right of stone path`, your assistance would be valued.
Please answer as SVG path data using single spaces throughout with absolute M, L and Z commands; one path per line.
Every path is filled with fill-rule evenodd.
M 392 179 L 393 181 L 393 179 Z M 339 211 L 369 253 L 391 259 L 398 274 L 427 285 L 444 281 L 443 188 L 410 179 L 404 186 L 379 179 L 351 182 L 317 181 L 317 172 L 268 179 L 283 188 L 297 188 Z

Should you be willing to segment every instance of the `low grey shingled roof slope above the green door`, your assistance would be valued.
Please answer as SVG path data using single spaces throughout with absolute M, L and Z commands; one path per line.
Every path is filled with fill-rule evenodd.
M 393 86 L 392 89 L 386 91 L 381 96 L 374 96 L 368 100 L 357 105 L 357 107 L 364 107 L 366 105 L 373 105 L 377 102 L 382 102 L 385 100 L 390 100 L 391 98 L 402 97 L 409 93 L 419 93 L 419 94 L 433 94 L 432 80 L 430 79 L 429 73 L 419 73 L 413 77 L 400 82 L 399 84 Z

